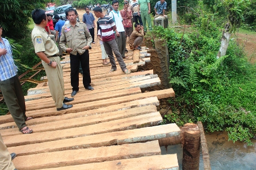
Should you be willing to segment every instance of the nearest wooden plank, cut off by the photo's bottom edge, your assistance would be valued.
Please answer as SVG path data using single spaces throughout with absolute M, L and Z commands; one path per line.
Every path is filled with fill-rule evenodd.
M 179 170 L 177 154 L 153 155 L 138 157 L 133 159 L 122 159 L 105 161 L 102 163 L 90 163 L 73 165 L 68 167 L 49 168 L 42 170 L 91 170 L 91 169 L 111 169 L 111 170 Z

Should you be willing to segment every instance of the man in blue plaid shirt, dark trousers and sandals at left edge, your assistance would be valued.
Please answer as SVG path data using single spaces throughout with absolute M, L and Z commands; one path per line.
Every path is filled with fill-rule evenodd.
M 2 38 L 2 33 L 3 28 L 0 26 L 0 90 L 19 131 L 30 134 L 33 130 L 27 127 L 25 121 L 32 117 L 26 116 L 25 98 L 17 76 L 18 68 L 14 64 L 11 45 L 7 39 Z

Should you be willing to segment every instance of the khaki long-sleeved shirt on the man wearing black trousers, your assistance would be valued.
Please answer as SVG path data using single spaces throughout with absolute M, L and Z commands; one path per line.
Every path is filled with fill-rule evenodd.
M 85 23 L 77 22 L 75 23 L 75 27 L 67 23 L 62 27 L 59 45 L 63 51 L 66 51 L 67 48 L 72 48 L 73 51 L 71 54 L 77 55 L 78 52 L 81 55 L 86 51 L 82 48 L 86 45 L 91 47 L 91 42 L 93 42 L 93 38 L 91 38 Z

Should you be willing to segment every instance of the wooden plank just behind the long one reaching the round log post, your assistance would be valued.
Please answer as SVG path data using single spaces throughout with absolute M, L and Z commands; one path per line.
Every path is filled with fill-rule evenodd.
M 162 122 L 159 112 L 138 115 L 135 117 L 118 119 L 116 121 L 98 123 L 83 127 L 67 128 L 64 130 L 32 133 L 29 135 L 3 136 L 3 141 L 7 147 L 20 146 L 32 143 L 49 142 L 67 138 L 77 138 L 79 136 L 102 134 L 106 132 L 129 130 L 147 126 L 155 126 Z M 27 138 L 30 140 L 27 140 Z

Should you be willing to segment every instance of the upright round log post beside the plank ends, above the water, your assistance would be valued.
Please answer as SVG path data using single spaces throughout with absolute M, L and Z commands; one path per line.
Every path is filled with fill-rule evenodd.
M 183 170 L 198 170 L 200 157 L 200 130 L 194 123 L 186 123 L 181 127 L 183 145 Z

